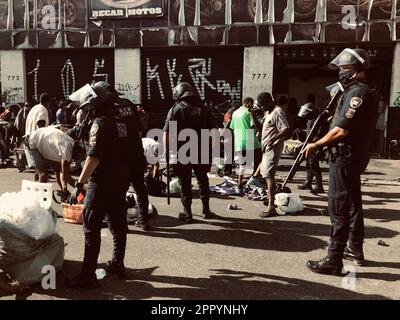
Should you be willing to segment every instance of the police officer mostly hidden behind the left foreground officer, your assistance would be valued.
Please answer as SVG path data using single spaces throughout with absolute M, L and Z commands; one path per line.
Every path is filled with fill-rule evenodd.
M 139 207 L 138 218 L 135 225 L 142 230 L 149 230 L 148 222 L 149 195 L 146 185 L 144 184 L 144 173 L 147 161 L 144 156 L 142 139 L 140 133 L 143 128 L 140 125 L 139 116 L 136 106 L 128 99 L 121 98 L 112 86 L 102 82 L 115 97 L 114 112 L 119 132 L 126 132 L 124 144 L 128 146 L 125 150 L 129 161 L 129 169 L 131 171 L 130 181 L 137 194 L 137 204 Z

